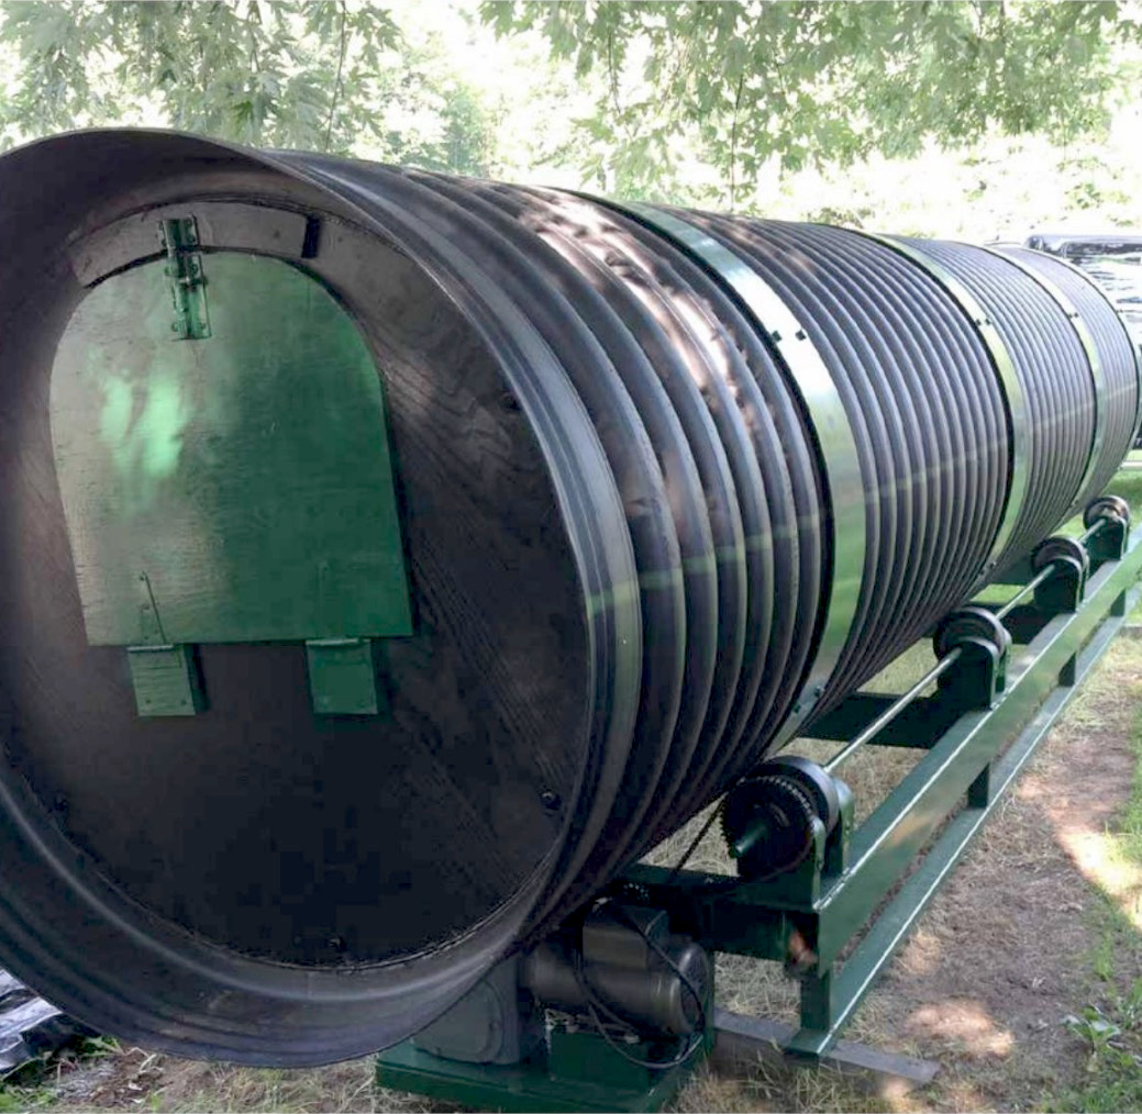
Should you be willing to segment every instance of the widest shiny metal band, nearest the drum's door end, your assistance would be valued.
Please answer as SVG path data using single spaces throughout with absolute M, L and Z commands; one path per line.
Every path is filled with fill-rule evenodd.
M 825 622 L 817 655 L 794 703 L 794 712 L 782 725 L 779 740 L 793 737 L 828 686 L 852 630 L 864 580 L 867 548 L 864 483 L 861 478 L 856 442 L 844 403 L 817 346 L 793 310 L 740 256 L 707 235 L 701 228 L 653 205 L 613 202 L 596 203 L 624 212 L 665 236 L 695 258 L 716 281 L 735 296 L 758 331 L 777 349 L 795 394 L 817 434 L 825 485 L 833 511 L 833 582 L 828 586 Z

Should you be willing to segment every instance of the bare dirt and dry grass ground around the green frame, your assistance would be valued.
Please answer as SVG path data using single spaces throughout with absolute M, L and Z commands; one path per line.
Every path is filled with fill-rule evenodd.
M 934 1059 L 919 1092 L 869 1096 L 827 1071 L 700 1072 L 683 1111 L 1043 1109 L 1080 1087 L 1088 1049 L 1063 1018 L 1109 980 L 1142 975 L 1142 878 L 1111 836 L 1129 798 L 1142 705 L 1142 641 L 1121 638 L 1086 681 L 1030 769 L 1000 806 L 849 1036 Z M 884 749 L 846 776 L 866 802 L 914 759 Z M 866 804 L 862 810 L 868 809 Z M 671 851 L 685 846 L 679 834 Z M 697 862 L 714 865 L 714 840 Z M 773 964 L 726 956 L 719 999 L 794 1019 L 796 987 Z M 116 1049 L 72 1056 L 10 1080 L 0 1111 L 417 1111 L 378 1091 L 369 1060 L 307 1072 L 206 1065 Z

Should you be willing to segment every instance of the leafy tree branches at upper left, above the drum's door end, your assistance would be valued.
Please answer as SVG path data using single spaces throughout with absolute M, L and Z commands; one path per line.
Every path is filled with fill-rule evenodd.
M 428 88 L 432 59 L 402 56 L 389 11 L 371 3 L 7 2 L 0 19 L 17 56 L 0 122 L 23 137 L 155 121 L 259 145 L 477 161 L 471 98 Z M 394 144 L 383 108 L 420 121 L 419 144 Z M 439 128 L 424 126 L 431 112 Z

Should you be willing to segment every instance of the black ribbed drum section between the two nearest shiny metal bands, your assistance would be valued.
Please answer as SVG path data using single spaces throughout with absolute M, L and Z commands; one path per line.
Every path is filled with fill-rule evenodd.
M 982 570 L 1006 494 L 1002 391 L 972 323 L 892 249 L 823 226 L 701 220 L 796 307 L 856 438 L 869 544 L 828 701 L 915 640 Z

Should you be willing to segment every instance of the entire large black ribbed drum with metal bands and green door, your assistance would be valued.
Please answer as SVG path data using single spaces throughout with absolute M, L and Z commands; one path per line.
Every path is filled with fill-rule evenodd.
M 191 136 L 0 159 L 0 962 L 413 1033 L 1099 493 L 1034 252 Z

